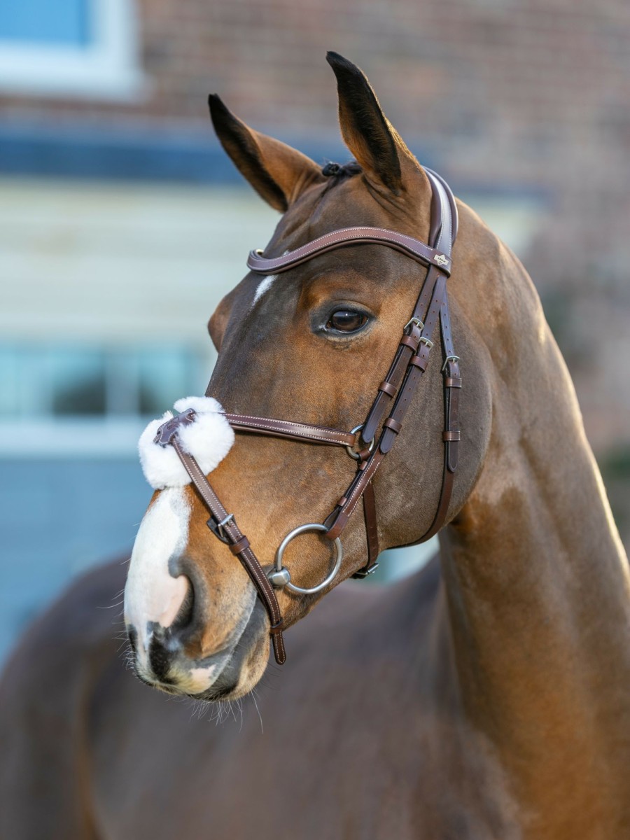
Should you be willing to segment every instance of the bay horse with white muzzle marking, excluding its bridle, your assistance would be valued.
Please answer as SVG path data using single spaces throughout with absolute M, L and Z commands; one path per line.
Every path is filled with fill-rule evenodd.
M 210 98 L 224 149 L 282 213 L 265 255 L 346 226 L 426 241 L 428 171 L 365 74 L 334 53 L 328 62 L 351 165 L 322 169 Z M 275 591 L 279 668 L 265 603 L 209 533 L 202 497 L 190 484 L 156 491 L 125 599 L 147 619 L 128 617 L 131 662 L 161 691 L 123 668 L 96 609 L 123 588 L 124 567 L 93 571 L 31 628 L 3 677 L 2 837 L 630 836 L 627 558 L 533 283 L 457 209 L 448 289 L 464 384 L 439 557 L 386 588 L 338 588 L 365 568 L 367 520 L 354 512 L 339 574 L 318 589 L 331 541 L 302 534 L 286 569 L 317 591 Z M 207 394 L 225 412 L 354 428 L 431 270 L 362 242 L 262 279 L 250 271 L 210 318 Z M 431 528 L 443 376 L 433 351 L 372 480 L 381 549 Z M 328 517 L 355 469 L 340 447 L 245 433 L 209 478 L 270 559 L 291 529 Z M 252 696 L 260 717 L 249 704 L 240 722 L 208 726 L 174 696 L 222 707 Z

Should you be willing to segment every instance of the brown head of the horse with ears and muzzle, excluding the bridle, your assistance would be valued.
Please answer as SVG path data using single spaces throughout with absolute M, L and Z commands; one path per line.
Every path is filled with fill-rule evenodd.
M 265 253 L 280 256 L 349 226 L 387 228 L 426 241 L 431 218 L 426 173 L 384 117 L 361 71 L 338 55 L 328 60 L 338 81 L 341 131 L 355 158 L 351 165 L 322 170 L 249 129 L 218 97 L 210 98 L 224 149 L 284 214 Z M 467 214 L 462 227 L 449 289 L 457 290 L 455 339 L 471 370 L 485 363 L 475 349 L 475 328 L 471 334 L 468 326 L 462 328 L 464 308 L 472 311 L 475 303 L 469 286 L 479 268 L 471 243 L 482 226 Z M 491 247 L 484 235 L 478 249 Z M 226 412 L 354 428 L 385 378 L 426 275 L 425 266 L 379 244 L 323 253 L 278 276 L 248 274 L 210 318 L 218 362 L 207 394 Z M 414 397 L 411 419 L 375 477 L 381 549 L 419 539 L 438 505 L 444 461 L 438 354 L 434 351 Z M 462 415 L 470 416 L 488 399 L 487 389 L 467 382 Z M 489 420 L 480 419 L 470 437 L 464 433 L 449 518 L 475 481 L 488 427 Z M 323 522 L 354 472 L 354 460 L 341 448 L 238 434 L 213 470 L 212 485 L 261 563 L 270 565 L 291 529 Z M 213 538 L 207 519 L 192 486 L 155 493 L 134 545 L 125 618 L 142 679 L 176 693 L 233 698 L 252 688 L 265 670 L 269 619 L 249 576 L 228 546 Z M 363 517 L 350 518 L 343 543 L 343 564 L 328 589 L 365 565 Z M 311 587 L 328 573 L 331 543 L 314 533 L 302 535 L 286 550 L 284 562 L 292 580 Z M 306 615 L 323 592 L 279 591 L 285 627 Z

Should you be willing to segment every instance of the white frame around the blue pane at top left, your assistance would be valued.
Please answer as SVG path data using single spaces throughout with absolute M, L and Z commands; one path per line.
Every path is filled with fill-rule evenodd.
M 87 47 L 0 39 L 0 90 L 38 96 L 137 100 L 146 95 L 138 63 L 133 0 L 89 0 L 94 41 Z

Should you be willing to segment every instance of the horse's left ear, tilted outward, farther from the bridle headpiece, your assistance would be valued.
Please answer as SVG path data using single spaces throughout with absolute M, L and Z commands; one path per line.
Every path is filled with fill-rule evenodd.
M 313 160 L 280 140 L 249 129 L 216 93 L 208 97 L 208 105 L 223 149 L 271 207 L 284 213 L 309 184 L 325 180 Z

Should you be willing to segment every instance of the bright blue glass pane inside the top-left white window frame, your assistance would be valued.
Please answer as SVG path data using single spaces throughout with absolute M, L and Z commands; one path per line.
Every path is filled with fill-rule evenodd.
M 92 40 L 91 0 L 3 0 L 0 40 L 87 46 Z

